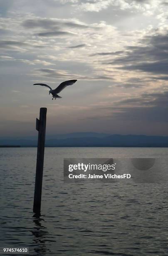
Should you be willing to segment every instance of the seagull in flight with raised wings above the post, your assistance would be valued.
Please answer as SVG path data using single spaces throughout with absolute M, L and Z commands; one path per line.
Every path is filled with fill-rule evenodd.
M 68 85 L 72 85 L 74 83 L 77 82 L 77 79 L 73 79 L 73 80 L 68 80 L 68 81 L 64 81 L 62 82 L 61 84 L 59 84 L 59 86 L 52 90 L 52 88 L 48 85 L 48 84 L 33 84 L 33 85 L 41 85 L 41 86 L 45 86 L 45 87 L 48 87 L 50 90 L 49 90 L 49 95 L 50 93 L 52 94 L 52 100 L 55 98 L 62 98 L 58 95 L 59 92 L 61 92 L 65 87 L 67 87 Z

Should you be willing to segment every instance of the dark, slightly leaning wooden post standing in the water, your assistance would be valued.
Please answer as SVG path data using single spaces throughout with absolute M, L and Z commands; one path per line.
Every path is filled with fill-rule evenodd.
M 40 108 L 40 120 L 36 119 L 36 130 L 39 132 L 39 134 L 38 134 L 38 145 L 37 145 L 35 195 L 34 195 L 34 204 L 33 204 L 33 212 L 35 213 L 40 213 L 40 209 L 41 209 L 46 114 L 47 114 L 47 108 Z

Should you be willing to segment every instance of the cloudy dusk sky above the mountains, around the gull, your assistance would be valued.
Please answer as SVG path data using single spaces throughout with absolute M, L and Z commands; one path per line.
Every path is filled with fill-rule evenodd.
M 41 107 L 48 134 L 168 136 L 168 0 L 0 0 L 0 137 Z

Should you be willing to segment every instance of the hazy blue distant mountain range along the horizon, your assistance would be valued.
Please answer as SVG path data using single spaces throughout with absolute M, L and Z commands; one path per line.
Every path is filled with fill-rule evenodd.
M 37 137 L 0 138 L 0 145 L 36 147 Z M 168 136 L 69 133 L 46 136 L 46 147 L 168 147 Z

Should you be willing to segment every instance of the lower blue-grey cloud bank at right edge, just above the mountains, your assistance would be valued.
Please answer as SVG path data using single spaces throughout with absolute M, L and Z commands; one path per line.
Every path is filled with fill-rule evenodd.
M 168 91 L 143 93 L 138 97 L 120 100 L 112 105 L 97 107 L 99 113 L 105 111 L 103 118 L 112 120 L 141 121 L 141 122 L 168 122 Z M 101 115 L 99 115 L 101 119 Z M 146 125 L 146 123 L 144 123 Z M 161 125 L 161 123 L 160 123 Z

